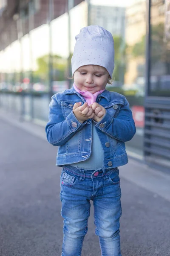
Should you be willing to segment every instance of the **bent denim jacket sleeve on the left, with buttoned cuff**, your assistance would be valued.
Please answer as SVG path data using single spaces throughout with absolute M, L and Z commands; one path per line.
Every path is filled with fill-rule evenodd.
M 54 146 L 64 145 L 87 122 L 80 123 L 73 111 L 64 119 L 62 108 L 53 97 L 49 105 L 48 119 L 45 132 L 48 142 Z

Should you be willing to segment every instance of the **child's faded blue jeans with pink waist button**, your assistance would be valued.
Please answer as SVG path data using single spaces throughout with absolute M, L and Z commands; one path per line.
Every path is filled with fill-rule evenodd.
M 121 256 L 119 218 L 122 214 L 119 170 L 83 170 L 64 166 L 60 176 L 61 215 L 64 218 L 62 256 L 81 256 L 88 231 L 90 200 L 95 234 L 102 256 Z

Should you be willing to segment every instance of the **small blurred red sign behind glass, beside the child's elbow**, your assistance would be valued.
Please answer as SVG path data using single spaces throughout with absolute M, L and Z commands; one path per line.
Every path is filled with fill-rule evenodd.
M 136 127 L 144 127 L 144 107 L 143 106 L 133 106 L 132 107 L 133 119 L 135 121 Z

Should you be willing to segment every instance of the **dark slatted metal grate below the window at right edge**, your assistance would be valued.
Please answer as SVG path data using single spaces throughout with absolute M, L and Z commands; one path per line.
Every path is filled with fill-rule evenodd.
M 144 157 L 149 165 L 170 172 L 170 98 L 146 98 Z

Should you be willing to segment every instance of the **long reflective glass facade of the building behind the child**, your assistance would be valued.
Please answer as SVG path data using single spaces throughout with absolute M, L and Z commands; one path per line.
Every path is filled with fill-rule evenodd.
M 124 94 L 129 101 L 136 135 L 127 143 L 127 150 L 142 156 L 146 0 L 16 3 L 20 3 L 18 12 L 0 30 L 0 107 L 23 119 L 46 122 L 51 96 L 73 84 L 69 78 L 75 36 L 84 26 L 103 26 L 115 43 L 113 84 L 107 89 Z M 151 96 L 170 96 L 169 6 L 168 0 L 151 1 Z

